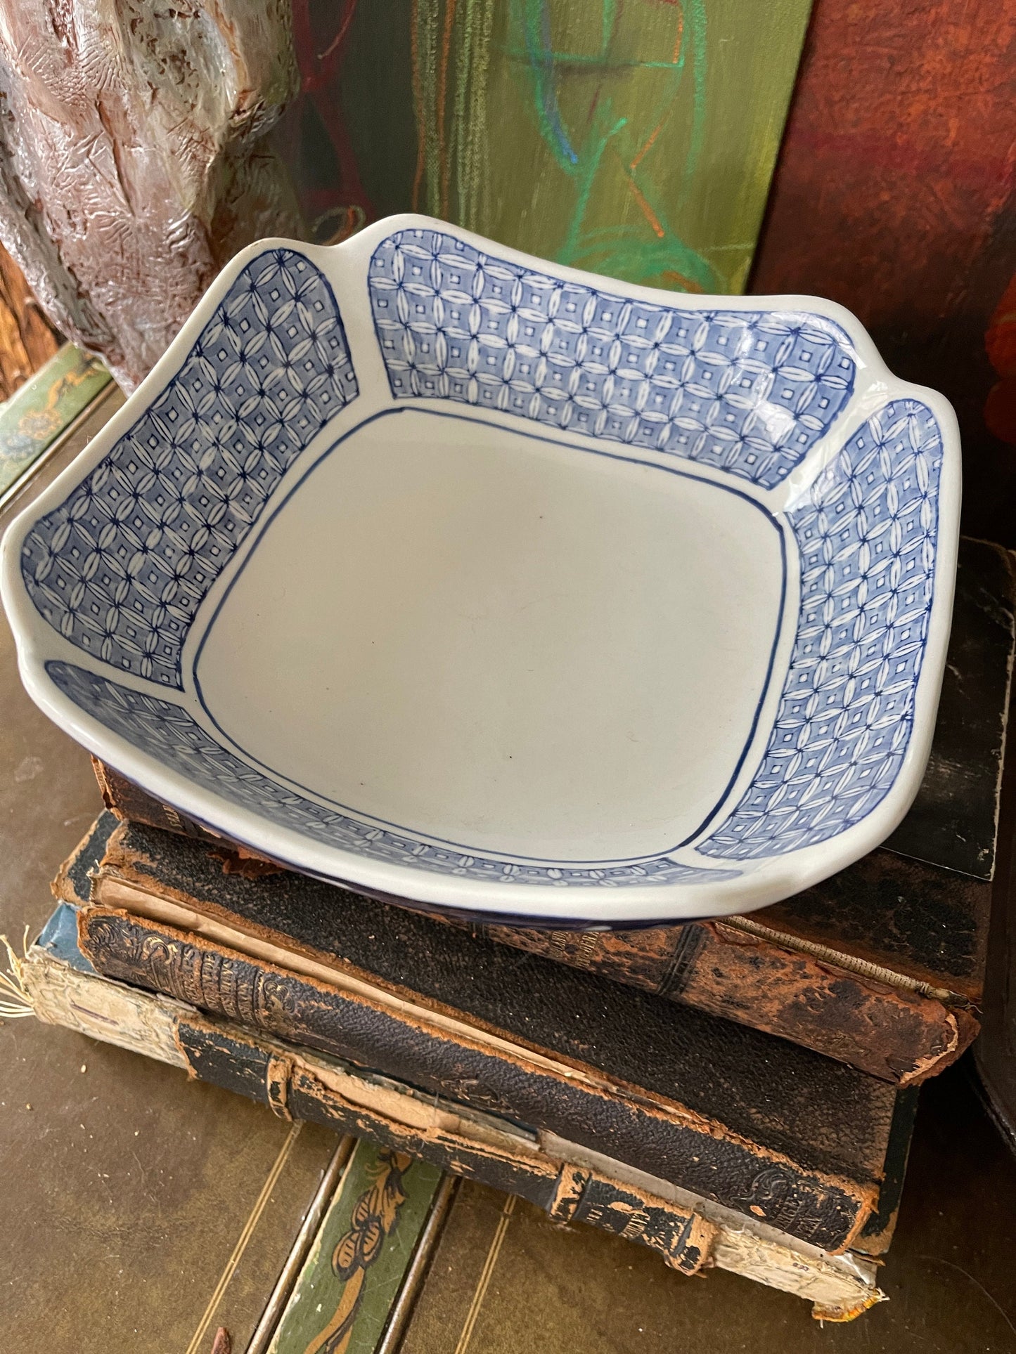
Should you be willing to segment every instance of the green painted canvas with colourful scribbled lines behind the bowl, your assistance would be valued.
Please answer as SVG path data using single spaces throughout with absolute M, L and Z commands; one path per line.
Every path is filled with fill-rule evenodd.
M 297 0 L 282 139 L 312 238 L 419 210 L 542 257 L 744 290 L 810 0 Z

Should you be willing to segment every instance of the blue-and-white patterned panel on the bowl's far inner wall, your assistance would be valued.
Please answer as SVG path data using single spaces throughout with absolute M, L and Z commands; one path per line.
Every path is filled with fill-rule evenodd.
M 496 409 L 765 489 L 853 390 L 851 341 L 822 315 L 630 301 L 432 230 L 383 240 L 368 286 L 396 398 Z

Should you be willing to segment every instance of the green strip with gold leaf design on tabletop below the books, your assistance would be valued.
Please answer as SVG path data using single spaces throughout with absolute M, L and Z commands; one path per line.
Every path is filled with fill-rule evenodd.
M 268 1354 L 374 1354 L 442 1173 L 359 1141 Z

